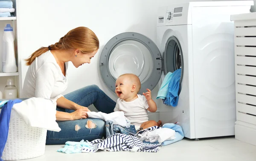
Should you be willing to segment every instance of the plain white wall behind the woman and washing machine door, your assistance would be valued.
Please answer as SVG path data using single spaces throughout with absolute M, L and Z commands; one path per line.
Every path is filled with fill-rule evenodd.
M 91 64 L 78 69 L 70 63 L 69 86 L 64 94 L 97 84 L 116 101 L 115 94 L 105 86 L 98 72 L 102 47 L 122 32 L 139 32 L 155 42 L 157 8 L 186 1 L 189 0 L 17 0 L 18 52 L 21 59 L 27 58 L 41 46 L 57 42 L 70 29 L 87 26 L 99 37 L 99 52 Z M 26 71 L 23 61 L 22 80 Z M 153 90 L 153 98 L 157 90 Z

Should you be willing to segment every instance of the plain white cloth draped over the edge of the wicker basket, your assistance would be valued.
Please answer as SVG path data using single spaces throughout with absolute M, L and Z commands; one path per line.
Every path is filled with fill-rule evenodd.
M 61 131 L 56 122 L 56 106 L 49 99 L 29 98 L 12 107 L 25 123 L 32 127 L 41 127 L 50 131 Z

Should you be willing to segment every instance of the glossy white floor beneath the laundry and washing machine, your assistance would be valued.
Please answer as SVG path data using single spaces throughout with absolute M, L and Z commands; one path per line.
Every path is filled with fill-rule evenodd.
M 256 146 L 234 137 L 202 139 L 184 138 L 162 147 L 157 153 L 103 152 L 65 154 L 56 152 L 63 145 L 46 146 L 45 154 L 26 161 L 256 161 Z

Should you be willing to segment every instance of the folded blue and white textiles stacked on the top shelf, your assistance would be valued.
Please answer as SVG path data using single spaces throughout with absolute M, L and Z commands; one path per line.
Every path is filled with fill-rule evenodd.
M 0 17 L 11 17 L 14 16 L 12 13 L 15 12 L 13 3 L 11 0 L 0 0 Z

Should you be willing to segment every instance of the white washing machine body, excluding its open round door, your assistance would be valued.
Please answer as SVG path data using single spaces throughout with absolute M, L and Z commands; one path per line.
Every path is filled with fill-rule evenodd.
M 186 138 L 235 135 L 234 28 L 231 14 L 253 1 L 190 2 L 160 8 L 157 46 L 166 72 L 182 68 L 176 107 L 160 106 L 163 123 L 179 124 Z M 169 61 L 168 61 L 169 60 Z

